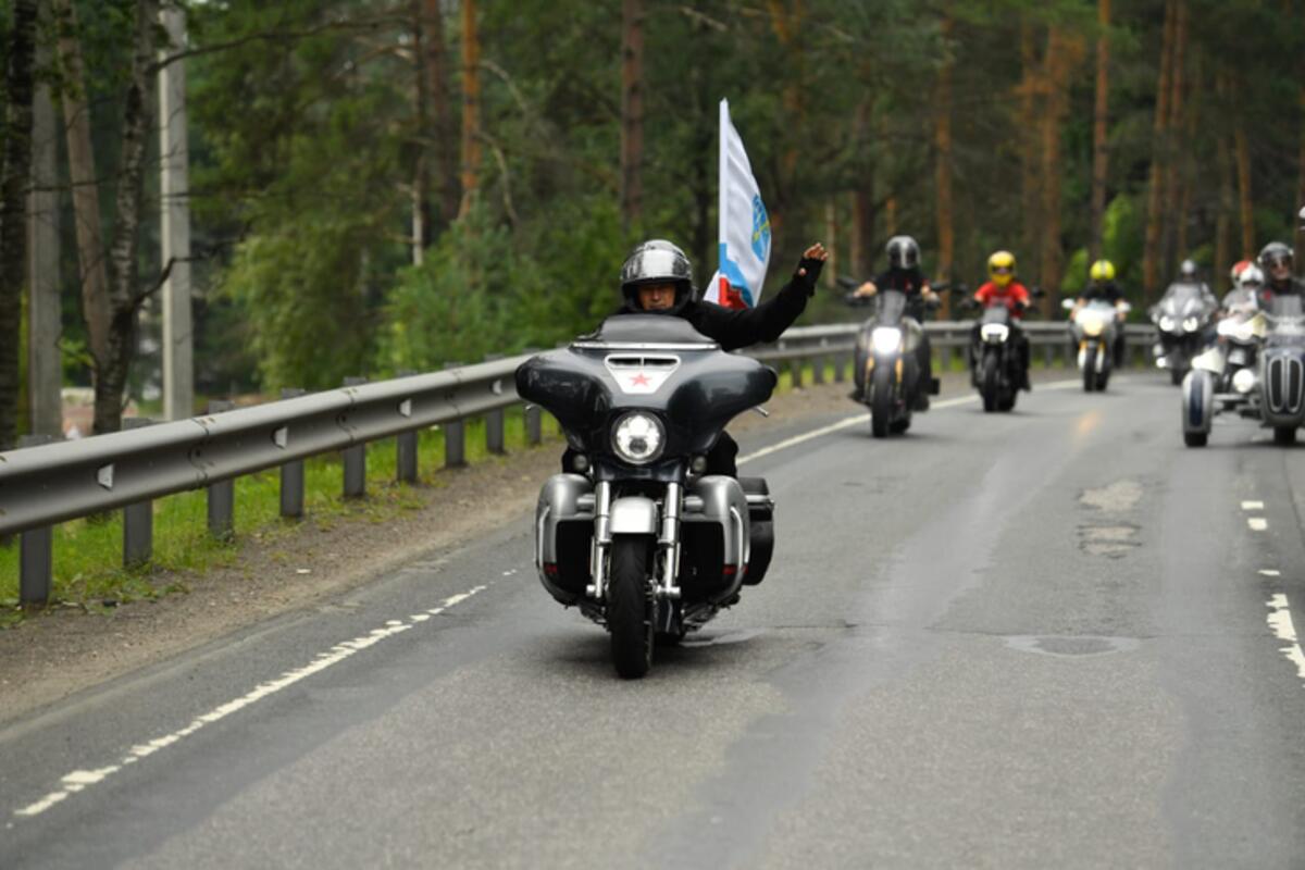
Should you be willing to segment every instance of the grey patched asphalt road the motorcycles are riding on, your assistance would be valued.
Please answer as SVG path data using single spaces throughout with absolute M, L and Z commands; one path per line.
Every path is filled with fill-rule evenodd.
M 852 413 L 744 438 L 770 575 L 646 680 L 505 518 L 0 730 L 0 866 L 1305 866 L 1305 447 Z

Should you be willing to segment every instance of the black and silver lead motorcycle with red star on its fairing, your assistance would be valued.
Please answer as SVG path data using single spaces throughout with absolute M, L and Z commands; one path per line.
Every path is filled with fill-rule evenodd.
M 775 382 L 774 369 L 656 314 L 609 317 L 517 369 L 517 393 L 557 419 L 582 472 L 539 493 L 539 579 L 607 627 L 621 677 L 646 674 L 656 642 L 677 643 L 765 577 L 766 481 L 703 472 L 726 425 Z

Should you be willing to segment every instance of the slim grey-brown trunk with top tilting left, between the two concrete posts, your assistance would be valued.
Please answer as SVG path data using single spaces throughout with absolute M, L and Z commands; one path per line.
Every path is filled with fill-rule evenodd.
M 59 0 L 59 14 L 74 21 L 68 0 Z M 82 72 L 81 43 L 72 30 L 60 39 L 59 52 L 70 87 L 63 94 L 68 133 L 68 175 L 73 189 L 73 223 L 77 230 L 77 261 L 81 273 L 82 320 L 95 365 L 108 355 L 108 270 L 104 266 L 104 236 L 99 220 L 99 176 L 90 142 L 90 106 Z

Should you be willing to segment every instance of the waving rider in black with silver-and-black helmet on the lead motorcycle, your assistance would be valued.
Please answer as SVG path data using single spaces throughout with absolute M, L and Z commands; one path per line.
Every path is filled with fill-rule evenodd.
M 615 313 L 683 317 L 724 351 L 774 342 L 806 308 L 827 258 L 825 245 L 817 241 L 803 252 L 793 277 L 779 292 L 753 308 L 735 309 L 696 299 L 689 258 L 669 241 L 652 239 L 636 245 L 621 266 L 622 304 Z M 566 450 L 562 471 L 577 471 L 576 455 Z M 706 455 L 706 473 L 737 477 L 737 442 L 728 433 L 720 433 Z

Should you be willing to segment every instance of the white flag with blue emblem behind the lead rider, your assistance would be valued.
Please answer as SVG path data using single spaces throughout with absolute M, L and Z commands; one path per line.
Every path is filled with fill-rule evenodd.
M 720 253 L 703 297 L 726 308 L 752 308 L 770 265 L 770 217 L 761 201 L 752 163 L 729 121 L 729 100 L 720 100 Z

